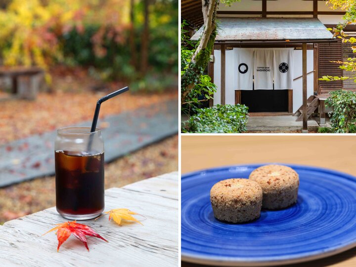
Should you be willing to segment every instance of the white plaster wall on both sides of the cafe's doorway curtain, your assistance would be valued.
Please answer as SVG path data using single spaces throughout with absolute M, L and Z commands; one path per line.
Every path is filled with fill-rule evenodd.
M 233 52 L 225 52 L 225 104 L 235 104 L 235 88 L 233 87 Z M 217 92 L 214 94 L 214 105 L 221 103 L 221 51 L 214 51 L 214 83 L 217 85 Z M 294 50 L 294 73 L 293 77 L 303 75 L 302 50 Z M 307 73 L 313 70 L 313 51 L 307 51 Z M 308 75 L 307 80 L 308 97 L 314 93 L 314 75 Z M 293 82 L 293 113 L 303 104 L 303 79 L 299 78 Z

